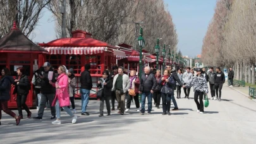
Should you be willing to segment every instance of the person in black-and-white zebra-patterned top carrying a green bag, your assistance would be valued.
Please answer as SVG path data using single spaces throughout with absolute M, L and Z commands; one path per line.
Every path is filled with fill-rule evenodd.
M 208 93 L 208 86 L 207 82 L 202 75 L 202 69 L 196 68 L 195 71 L 197 75 L 192 78 L 189 83 L 186 83 L 185 87 L 192 87 L 194 89 L 194 100 L 195 104 L 197 104 L 197 112 L 200 114 L 204 114 L 204 102 L 203 102 L 203 95 L 204 93 Z M 198 102 L 198 96 L 200 103 Z

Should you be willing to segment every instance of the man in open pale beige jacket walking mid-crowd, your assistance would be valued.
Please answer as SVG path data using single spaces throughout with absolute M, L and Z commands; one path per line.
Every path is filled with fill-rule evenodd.
M 123 67 L 119 66 L 118 75 L 114 76 L 113 88 L 116 91 L 116 99 L 118 100 L 119 111 L 121 115 L 125 114 L 125 95 L 130 87 L 130 78 L 123 73 Z

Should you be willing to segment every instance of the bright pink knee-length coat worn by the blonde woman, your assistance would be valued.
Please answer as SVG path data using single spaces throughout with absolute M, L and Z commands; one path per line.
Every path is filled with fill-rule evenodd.
M 70 105 L 70 94 L 68 93 L 68 76 L 64 73 L 58 76 L 56 83 L 53 83 L 53 87 L 56 87 L 58 83 L 59 89 L 56 89 L 56 95 L 52 102 L 52 107 L 55 106 L 56 100 L 59 100 L 59 106 L 69 106 Z

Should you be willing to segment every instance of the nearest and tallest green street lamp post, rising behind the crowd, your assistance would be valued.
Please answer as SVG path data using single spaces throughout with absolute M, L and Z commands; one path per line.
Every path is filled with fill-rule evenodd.
M 143 29 L 140 27 L 140 36 L 138 36 L 138 45 L 140 46 L 140 72 L 139 72 L 139 78 L 140 81 L 142 80 L 142 48 L 145 47 L 145 40 L 143 39 Z M 142 101 L 142 94 L 140 93 L 138 95 L 138 100 L 141 102 Z

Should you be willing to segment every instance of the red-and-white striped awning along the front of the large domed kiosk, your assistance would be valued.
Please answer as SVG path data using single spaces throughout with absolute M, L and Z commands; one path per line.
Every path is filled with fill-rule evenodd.
M 101 54 L 107 47 L 42 47 L 50 54 Z

